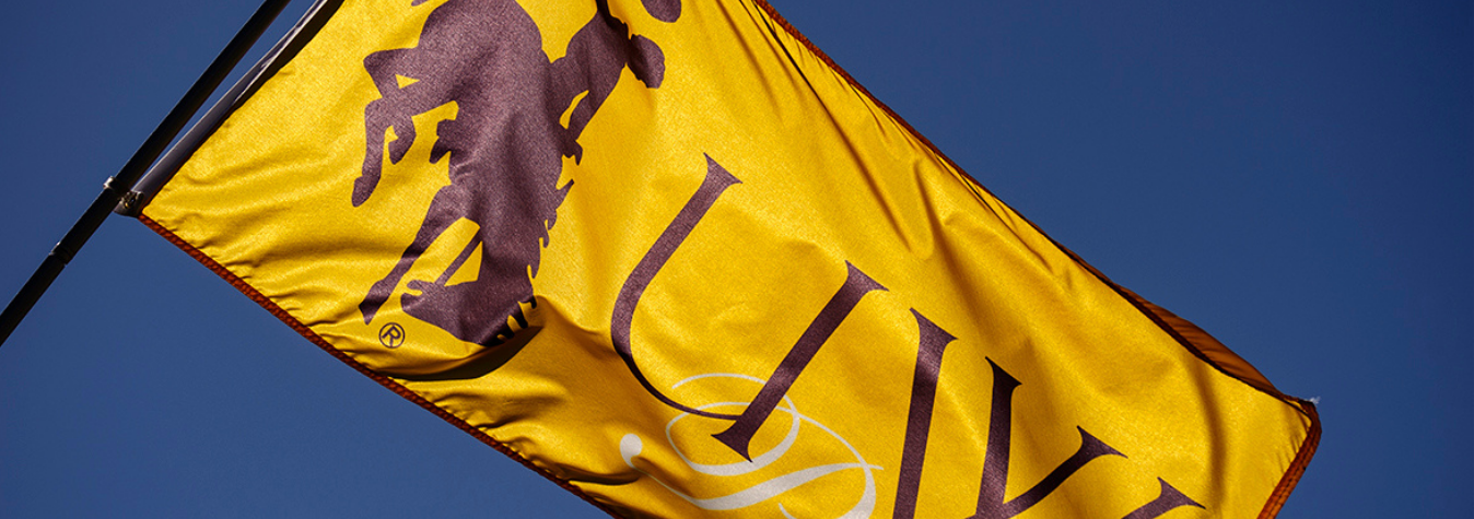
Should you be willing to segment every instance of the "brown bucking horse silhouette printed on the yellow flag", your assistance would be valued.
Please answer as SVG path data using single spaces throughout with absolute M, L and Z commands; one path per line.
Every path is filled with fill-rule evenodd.
M 420 4 L 425 0 L 416 0 Z M 657 19 L 675 21 L 680 0 L 646 0 Z M 522 304 L 532 304 L 541 248 L 572 181 L 557 186 L 562 156 L 582 161 L 578 136 L 619 83 L 624 68 L 646 87 L 659 87 L 665 56 L 649 38 L 629 35 L 606 0 L 551 62 L 542 35 L 514 0 L 448 0 L 430 12 L 411 49 L 368 55 L 364 68 L 382 97 L 364 108 L 367 149 L 352 203 L 363 205 L 379 184 L 385 131 L 389 161 L 398 164 L 414 143 L 411 116 L 454 102 L 454 119 L 441 121 L 430 162 L 450 156 L 450 184 L 435 193 L 414 240 L 358 310 L 364 323 L 394 293 L 414 261 L 460 218 L 475 221 L 476 236 L 433 282 L 411 280 L 419 295 L 401 296 L 410 316 L 455 338 L 497 345 L 513 335 L 509 317 L 525 327 Z M 399 77 L 410 78 L 401 86 Z M 587 93 L 587 94 L 585 94 Z M 559 118 L 575 99 L 569 124 Z M 481 249 L 476 280 L 448 285 Z

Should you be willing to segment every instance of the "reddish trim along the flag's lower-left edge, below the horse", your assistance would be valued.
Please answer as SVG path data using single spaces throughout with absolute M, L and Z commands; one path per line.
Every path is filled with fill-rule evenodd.
M 573 495 L 578 495 L 584 501 L 588 501 L 590 504 L 598 507 L 604 513 L 609 513 L 613 518 L 624 518 L 615 509 L 612 509 L 609 504 L 600 503 L 600 501 L 594 500 L 593 497 L 590 497 L 588 494 L 584 494 L 582 490 L 579 490 L 578 487 L 573 487 L 573 484 L 570 484 L 567 479 L 554 476 L 551 472 L 548 472 L 548 470 L 545 470 L 542 467 L 538 467 L 537 464 L 532 464 L 532 461 L 529 461 L 528 459 L 522 457 L 522 454 L 519 454 L 517 451 L 514 451 L 514 450 L 509 448 L 507 445 L 503 445 L 501 442 L 492 439 L 491 436 L 488 436 L 485 432 L 482 432 L 476 426 L 473 426 L 470 423 L 466 423 L 466 420 L 461 420 L 455 414 L 451 414 L 451 411 L 447 411 L 447 410 L 441 408 L 439 405 L 435 405 L 433 403 L 430 403 L 429 400 L 425 400 L 425 397 L 420 397 L 420 394 L 411 391 L 410 388 L 405 388 L 405 386 L 399 385 L 394 379 L 391 379 L 388 376 L 383 376 L 382 373 L 368 369 L 368 366 L 364 366 L 364 364 L 358 363 L 352 357 L 348 357 L 348 354 L 345 354 L 343 351 L 340 351 L 338 348 L 333 348 L 332 344 L 329 344 L 326 339 L 323 339 L 320 335 L 317 335 L 317 332 L 312 332 L 311 327 L 308 327 L 307 324 L 302 324 L 301 321 L 298 321 L 296 317 L 292 317 L 292 314 L 289 314 L 286 310 L 282 310 L 282 307 L 279 307 L 270 298 L 267 298 L 265 295 L 262 295 L 261 292 L 258 292 L 254 286 L 251 286 L 243 279 L 240 279 L 239 276 L 236 276 L 234 273 L 231 273 L 228 268 L 226 268 L 224 265 L 221 265 L 220 262 L 217 262 L 214 258 L 205 255 L 205 252 L 200 252 L 199 249 L 196 249 L 189 242 L 184 242 L 184 239 L 178 237 L 177 234 L 174 234 L 168 229 L 164 229 L 164 226 L 159 226 L 159 223 L 153 221 L 153 218 L 149 218 L 146 215 L 139 215 L 139 221 L 142 221 L 143 226 L 149 227 L 150 230 L 153 230 L 155 233 L 158 233 L 159 236 L 162 236 L 170 243 L 174 243 L 174 246 L 180 248 L 180 251 L 184 251 L 184 254 L 189 254 L 190 258 L 195 258 L 195 261 L 199 261 L 200 264 L 203 264 L 205 268 L 209 268 L 209 271 L 215 273 L 215 276 L 220 276 L 221 279 L 224 279 L 227 283 L 230 283 L 230 286 L 234 286 L 236 290 L 240 290 L 240 293 L 245 293 L 248 298 L 251 298 L 251 301 L 255 301 L 258 305 L 261 305 L 261 308 L 265 308 L 268 313 L 271 313 L 271 316 L 276 316 L 276 318 L 282 320 L 282 323 L 284 323 L 286 326 L 290 326 L 293 330 L 296 330 L 296 333 L 302 335 L 302 338 L 307 338 L 307 341 L 315 344 L 318 348 L 321 348 L 327 354 L 330 354 L 330 355 L 336 357 L 338 360 L 343 361 L 343 364 L 348 364 L 349 367 L 358 370 L 358 373 L 363 373 L 364 376 L 373 379 L 374 382 L 379 382 L 379 385 L 388 388 L 389 391 L 394 391 L 394 394 L 397 394 L 399 397 L 404 397 L 404 400 L 416 403 L 420 407 L 423 407 L 425 410 L 427 410 L 430 413 L 435 413 L 435 416 L 439 416 L 442 420 L 448 422 L 450 425 L 454 425 L 455 428 L 464 431 L 466 433 L 475 436 L 476 439 L 481 439 L 481 442 L 489 445 L 491 448 L 495 448 L 498 453 L 506 454 L 511 460 L 514 460 L 517 463 L 522 463 L 522 466 L 525 466 L 528 469 L 532 469 L 534 472 L 537 472 L 542 478 L 547 478 L 548 481 L 557 484 L 563 490 L 566 490 L 566 491 L 572 492 Z

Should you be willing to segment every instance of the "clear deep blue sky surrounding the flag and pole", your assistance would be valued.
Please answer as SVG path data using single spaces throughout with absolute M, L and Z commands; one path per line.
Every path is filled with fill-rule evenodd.
M 1055 240 L 1321 400 L 1282 518 L 1468 515 L 1471 3 L 772 3 Z M 7 6 L 0 298 L 254 9 Z M 127 218 L 0 348 L 0 515 L 601 516 Z

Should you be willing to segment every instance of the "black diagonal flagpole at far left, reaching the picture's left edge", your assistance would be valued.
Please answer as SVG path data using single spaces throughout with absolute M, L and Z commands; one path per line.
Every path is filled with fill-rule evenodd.
M 215 60 L 209 63 L 205 74 L 200 74 L 199 80 L 195 80 L 195 86 L 174 105 L 174 109 L 164 118 L 164 122 L 159 122 L 158 128 L 153 128 L 153 134 L 143 142 L 143 146 L 139 146 L 139 150 L 133 153 L 128 164 L 124 164 L 116 175 L 108 178 L 102 193 L 87 206 L 87 212 L 83 212 L 83 217 L 72 224 L 66 236 L 62 236 L 62 240 L 52 248 L 52 252 L 41 261 L 41 267 L 35 268 L 31 279 L 21 286 L 21 292 L 10 299 L 4 313 L 0 313 L 0 345 L 4 345 L 4 341 L 10 338 L 10 332 L 15 332 L 15 327 L 21 324 L 25 314 L 35 305 L 35 301 L 41 298 L 41 293 L 46 293 L 46 289 L 52 286 L 52 282 L 62 273 L 62 268 L 66 268 L 66 264 L 72 261 L 77 251 L 87 243 L 87 239 L 97 231 L 97 227 L 102 227 L 103 220 L 108 220 L 108 214 L 118 206 L 118 201 L 133 189 L 133 184 L 159 158 L 159 153 L 164 153 L 164 149 L 174 140 L 174 136 L 189 124 L 195 112 L 205 105 L 209 94 L 230 75 L 230 71 L 236 68 L 236 63 L 246 55 L 246 50 L 251 50 L 251 46 L 265 32 L 267 27 L 271 27 L 271 21 L 286 9 L 287 1 L 265 0 L 261 9 L 256 9 L 256 13 L 251 15 L 251 21 L 230 40 L 226 50 L 221 50 L 220 56 L 215 56 Z

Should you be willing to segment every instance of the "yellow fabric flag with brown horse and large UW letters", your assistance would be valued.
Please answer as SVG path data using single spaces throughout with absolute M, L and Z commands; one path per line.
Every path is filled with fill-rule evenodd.
M 140 220 L 610 515 L 1272 518 L 1315 451 L 761 0 L 323 1 L 261 72 Z

